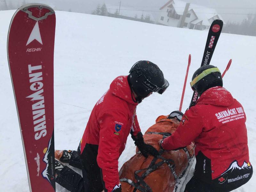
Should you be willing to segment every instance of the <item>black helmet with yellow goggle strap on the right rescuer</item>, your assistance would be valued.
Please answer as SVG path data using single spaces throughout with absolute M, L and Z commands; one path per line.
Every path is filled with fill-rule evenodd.
M 223 86 L 220 70 L 213 65 L 204 65 L 196 70 L 190 82 L 191 88 L 202 95 L 207 89 Z

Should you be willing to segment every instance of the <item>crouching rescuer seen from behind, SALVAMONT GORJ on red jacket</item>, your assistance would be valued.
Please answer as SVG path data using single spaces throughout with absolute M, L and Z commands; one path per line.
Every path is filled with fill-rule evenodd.
M 165 150 L 195 142 L 196 167 L 184 192 L 228 192 L 252 177 L 242 105 L 222 87 L 220 70 L 205 65 L 190 83 L 200 98 L 190 107 L 177 130 L 160 140 Z

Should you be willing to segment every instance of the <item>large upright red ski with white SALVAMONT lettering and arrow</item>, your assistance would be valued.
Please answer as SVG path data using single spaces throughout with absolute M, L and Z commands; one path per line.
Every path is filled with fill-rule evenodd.
M 21 6 L 7 40 L 30 191 L 55 191 L 53 52 L 55 12 L 44 4 Z

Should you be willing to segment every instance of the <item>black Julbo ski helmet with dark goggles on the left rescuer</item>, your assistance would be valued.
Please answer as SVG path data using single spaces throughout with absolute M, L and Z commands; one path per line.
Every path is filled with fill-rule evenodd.
M 128 82 L 138 96 L 138 101 L 147 97 L 151 92 L 162 94 L 169 86 L 160 68 L 150 61 L 138 61 L 129 73 Z

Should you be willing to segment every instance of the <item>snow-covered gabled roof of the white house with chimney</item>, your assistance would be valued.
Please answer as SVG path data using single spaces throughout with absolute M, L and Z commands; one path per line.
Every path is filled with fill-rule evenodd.
M 164 7 L 168 6 L 170 3 L 172 3 L 175 11 L 177 12 L 177 14 L 182 15 L 186 6 L 187 2 L 181 1 L 181 0 L 170 0 L 168 1 L 166 4 L 164 4 L 164 6 L 162 6 L 160 8 L 163 9 Z M 189 4 L 189 8 L 188 11 L 193 11 L 195 12 L 196 16 L 197 16 L 197 20 L 192 21 L 192 24 L 197 24 L 200 21 L 202 21 L 202 25 L 211 25 L 211 23 L 209 23 L 208 20 L 210 20 L 211 18 L 213 18 L 214 16 L 218 15 L 218 17 L 222 19 L 222 17 L 220 16 L 220 14 L 218 14 L 218 12 L 213 9 L 213 8 L 207 8 L 204 7 L 202 5 L 197 5 L 197 4 Z

